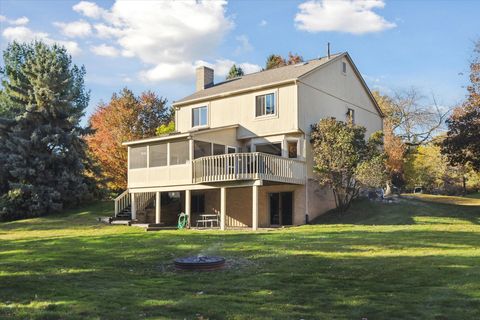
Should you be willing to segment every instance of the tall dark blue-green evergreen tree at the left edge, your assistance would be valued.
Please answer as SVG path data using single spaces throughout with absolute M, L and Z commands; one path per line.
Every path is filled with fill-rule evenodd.
M 0 121 L 0 218 L 61 210 L 91 196 L 91 169 L 80 118 L 88 105 L 85 68 L 63 47 L 10 44 L 3 92 L 10 120 Z

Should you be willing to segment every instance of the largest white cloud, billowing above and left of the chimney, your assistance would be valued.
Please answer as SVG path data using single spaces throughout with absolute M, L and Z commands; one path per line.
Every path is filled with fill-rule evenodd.
M 107 10 L 82 1 L 73 9 L 100 19 L 94 25 L 96 36 L 111 39 L 122 56 L 146 64 L 142 79 L 164 81 L 192 76 L 195 61 L 215 54 L 233 27 L 226 4 L 224 0 L 117 0 Z

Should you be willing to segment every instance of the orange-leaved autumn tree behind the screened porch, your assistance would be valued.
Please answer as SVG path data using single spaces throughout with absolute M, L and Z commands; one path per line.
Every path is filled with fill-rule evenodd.
M 122 142 L 155 136 L 157 127 L 170 121 L 166 104 L 166 99 L 153 92 L 137 97 L 125 88 L 90 116 L 94 133 L 87 137 L 88 148 L 100 164 L 110 190 L 127 187 L 127 148 Z

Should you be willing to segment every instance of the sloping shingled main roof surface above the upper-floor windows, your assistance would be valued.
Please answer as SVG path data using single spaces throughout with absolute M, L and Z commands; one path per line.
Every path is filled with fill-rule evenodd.
M 259 86 L 287 82 L 289 80 L 293 81 L 309 73 L 315 68 L 344 54 L 346 53 L 332 54 L 330 55 L 330 59 L 328 57 L 322 57 L 294 65 L 250 73 L 242 77 L 217 83 L 205 90 L 197 91 L 189 96 L 175 101 L 173 105 L 183 105 L 187 102 L 194 102 L 196 100 L 203 100 L 205 98 L 213 98 L 215 96 L 225 95 L 226 93 L 233 93 Z

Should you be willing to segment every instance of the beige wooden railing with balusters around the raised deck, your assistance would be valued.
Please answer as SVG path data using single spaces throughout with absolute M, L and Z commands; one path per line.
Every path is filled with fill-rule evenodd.
M 222 154 L 193 160 L 195 183 L 257 179 L 303 184 L 305 162 L 261 152 Z

